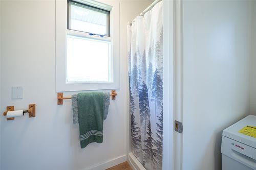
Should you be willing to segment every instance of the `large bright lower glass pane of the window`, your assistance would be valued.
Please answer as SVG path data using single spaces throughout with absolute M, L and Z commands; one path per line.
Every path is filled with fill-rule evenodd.
M 67 36 L 67 82 L 111 82 L 111 43 Z

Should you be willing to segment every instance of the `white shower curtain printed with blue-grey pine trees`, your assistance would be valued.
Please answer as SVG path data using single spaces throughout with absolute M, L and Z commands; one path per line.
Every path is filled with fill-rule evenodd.
M 127 26 L 131 147 L 147 169 L 162 169 L 163 11 L 157 3 Z

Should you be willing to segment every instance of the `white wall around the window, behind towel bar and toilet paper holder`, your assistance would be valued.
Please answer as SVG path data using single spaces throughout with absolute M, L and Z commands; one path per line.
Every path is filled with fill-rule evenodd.
M 120 89 L 104 121 L 103 143 L 80 149 L 72 124 L 71 101 L 57 105 L 55 92 L 55 1 L 2 1 L 1 113 L 6 106 L 36 104 L 36 117 L 7 121 L 1 116 L 2 169 L 104 169 L 126 160 L 126 24 L 150 1 L 120 3 Z M 11 99 L 11 86 L 24 86 L 22 100 Z M 72 93 L 65 93 L 70 95 Z M 128 148 L 129 149 L 129 148 Z M 103 165 L 100 165 L 103 164 Z M 98 166 L 99 165 L 99 166 Z

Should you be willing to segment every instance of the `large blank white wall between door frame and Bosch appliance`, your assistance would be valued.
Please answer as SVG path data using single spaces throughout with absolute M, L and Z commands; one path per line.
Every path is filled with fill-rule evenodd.
M 222 130 L 249 114 L 250 6 L 183 2 L 183 169 L 221 169 Z

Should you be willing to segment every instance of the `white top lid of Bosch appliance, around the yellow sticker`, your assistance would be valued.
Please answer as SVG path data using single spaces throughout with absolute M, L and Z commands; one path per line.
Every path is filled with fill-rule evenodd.
M 256 138 L 238 132 L 246 126 L 256 127 L 256 116 L 249 115 L 239 122 L 231 125 L 223 130 L 222 136 L 226 136 L 256 149 Z

